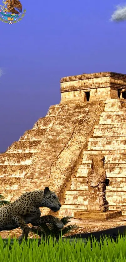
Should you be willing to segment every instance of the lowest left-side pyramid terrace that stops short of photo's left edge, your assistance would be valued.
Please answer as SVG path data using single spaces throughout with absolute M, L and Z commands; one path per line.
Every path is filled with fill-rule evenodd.
M 41 145 L 42 141 L 16 141 L 8 147 L 6 153 L 35 153 L 38 152 L 38 146 Z

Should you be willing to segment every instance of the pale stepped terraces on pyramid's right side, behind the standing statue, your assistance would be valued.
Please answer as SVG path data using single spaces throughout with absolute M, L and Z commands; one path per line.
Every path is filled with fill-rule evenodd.
M 91 156 L 104 154 L 107 178 L 106 187 L 109 210 L 121 210 L 126 215 L 126 101 L 107 99 L 99 124 L 95 125 L 93 137 L 88 139 L 71 186 L 66 191 L 65 202 L 59 216 L 74 216 L 75 211 L 87 210 L 87 173 L 91 168 Z

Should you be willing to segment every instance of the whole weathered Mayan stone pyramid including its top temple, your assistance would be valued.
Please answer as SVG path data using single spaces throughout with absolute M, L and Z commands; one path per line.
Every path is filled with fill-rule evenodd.
M 0 194 L 12 202 L 48 186 L 62 204 L 56 216 L 73 216 L 87 210 L 91 156 L 102 153 L 109 209 L 126 215 L 126 75 L 82 74 L 60 82 L 60 103 L 0 154 Z

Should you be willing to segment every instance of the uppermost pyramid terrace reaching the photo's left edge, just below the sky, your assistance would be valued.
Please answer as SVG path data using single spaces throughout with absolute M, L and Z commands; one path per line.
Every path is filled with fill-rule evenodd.
M 3 153 L 0 154 L 0 165 L 31 165 L 38 153 Z

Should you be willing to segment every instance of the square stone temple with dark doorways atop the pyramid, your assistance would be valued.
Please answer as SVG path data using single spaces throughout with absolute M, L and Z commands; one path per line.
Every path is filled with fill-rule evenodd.
M 126 75 L 114 72 L 82 74 L 61 78 L 61 102 L 69 99 L 97 101 L 106 98 L 125 98 Z

